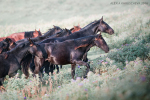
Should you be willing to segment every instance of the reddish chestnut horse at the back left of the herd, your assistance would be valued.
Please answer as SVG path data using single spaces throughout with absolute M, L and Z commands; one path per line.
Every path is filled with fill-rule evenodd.
M 40 30 L 37 31 L 35 29 L 35 31 L 29 31 L 29 32 L 20 32 L 20 33 L 13 33 L 7 37 L 1 37 L 0 38 L 0 41 L 3 41 L 3 39 L 5 38 L 10 38 L 12 39 L 14 42 L 18 41 L 18 40 L 21 40 L 21 39 L 24 39 L 24 38 L 33 38 L 33 37 L 37 37 L 37 36 L 41 36 L 41 32 Z

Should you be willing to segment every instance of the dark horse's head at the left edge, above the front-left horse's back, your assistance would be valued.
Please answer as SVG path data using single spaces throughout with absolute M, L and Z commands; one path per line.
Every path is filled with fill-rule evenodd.
M 6 38 L 0 42 L 0 53 L 10 50 L 10 46 L 14 44 L 14 41 L 10 38 Z

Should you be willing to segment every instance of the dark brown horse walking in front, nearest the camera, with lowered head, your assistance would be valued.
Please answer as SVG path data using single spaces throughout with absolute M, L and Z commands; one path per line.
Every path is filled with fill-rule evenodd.
M 90 65 L 87 62 L 82 61 L 82 58 L 91 47 L 97 46 L 106 53 L 109 52 L 109 47 L 103 39 L 101 33 L 77 39 L 70 39 L 64 42 L 43 43 L 38 45 L 40 48 L 43 48 L 46 51 L 46 54 L 43 54 L 43 57 L 47 56 L 47 58 L 45 58 L 46 61 L 56 65 L 71 64 L 71 75 L 73 79 L 75 75 L 76 64 L 84 65 L 87 67 L 86 75 L 89 72 Z M 36 55 L 38 55 L 40 52 L 38 51 L 40 49 L 37 50 L 35 47 L 31 47 L 30 49 L 32 52 L 35 52 Z M 39 72 L 40 68 L 41 66 L 36 66 L 35 71 Z

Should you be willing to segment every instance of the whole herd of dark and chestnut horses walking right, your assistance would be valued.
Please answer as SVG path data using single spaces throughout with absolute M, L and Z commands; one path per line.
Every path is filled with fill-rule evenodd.
M 100 32 L 99 34 L 97 34 Z M 29 77 L 29 68 L 33 75 L 42 77 L 43 70 L 49 74 L 62 65 L 71 64 L 71 75 L 74 79 L 75 66 L 87 67 L 86 75 L 90 70 L 87 63 L 87 52 L 97 46 L 106 53 L 109 47 L 101 32 L 114 34 L 114 30 L 103 21 L 103 17 L 93 21 L 83 28 L 74 26 L 71 29 L 61 29 L 54 26 L 48 32 L 41 34 L 40 30 L 14 33 L 0 38 L 0 85 L 6 75 L 13 77 L 22 69 L 26 78 Z M 85 75 L 85 77 L 86 77 Z

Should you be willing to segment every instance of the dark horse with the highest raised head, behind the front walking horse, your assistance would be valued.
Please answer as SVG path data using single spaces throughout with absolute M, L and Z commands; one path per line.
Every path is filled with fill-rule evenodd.
M 53 39 L 47 38 L 47 39 L 41 41 L 39 44 L 63 42 L 68 39 L 77 39 L 80 37 L 97 34 L 99 31 L 106 32 L 110 35 L 114 34 L 114 30 L 106 22 L 103 21 L 103 17 L 102 17 L 100 20 L 91 22 L 90 24 L 88 24 L 87 26 L 82 28 L 81 30 L 76 31 L 69 36 L 57 37 L 57 38 L 53 38 Z M 34 63 L 36 63 L 36 60 L 39 61 L 38 65 L 43 65 L 43 63 L 46 63 L 44 60 L 41 61 L 41 59 L 39 59 L 38 57 L 34 58 L 34 61 L 35 61 Z M 83 60 L 87 61 L 87 53 L 85 53 Z M 30 68 L 32 69 L 34 67 L 30 67 Z M 32 69 L 32 70 L 34 70 L 34 69 Z

